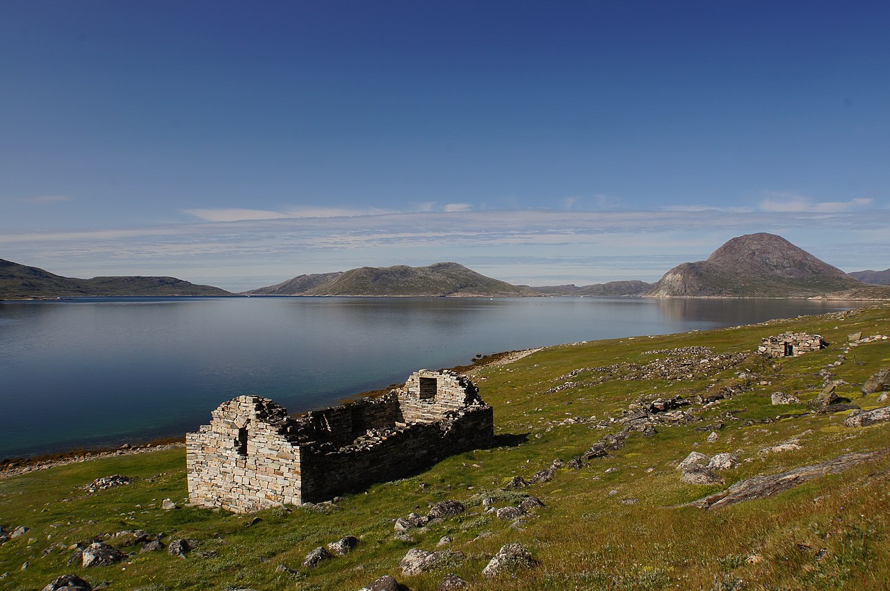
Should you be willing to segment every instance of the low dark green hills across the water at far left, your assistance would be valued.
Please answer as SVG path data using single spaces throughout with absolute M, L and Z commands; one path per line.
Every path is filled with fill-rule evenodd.
M 93 277 L 54 275 L 42 268 L 0 259 L 0 299 L 74 298 L 88 296 L 231 295 L 210 285 L 176 277 Z

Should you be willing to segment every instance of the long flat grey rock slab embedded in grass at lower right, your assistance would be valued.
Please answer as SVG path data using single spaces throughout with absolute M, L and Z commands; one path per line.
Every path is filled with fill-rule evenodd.
M 840 474 L 847 468 L 854 467 L 871 459 L 878 459 L 887 450 L 869 451 L 866 453 L 846 453 L 836 459 L 829 459 L 811 466 L 796 467 L 779 474 L 754 476 L 732 484 L 725 491 L 708 495 L 703 499 L 686 503 L 681 507 L 699 507 L 712 509 L 740 503 L 743 500 L 763 499 L 785 491 L 798 484 L 803 484 L 825 474 Z

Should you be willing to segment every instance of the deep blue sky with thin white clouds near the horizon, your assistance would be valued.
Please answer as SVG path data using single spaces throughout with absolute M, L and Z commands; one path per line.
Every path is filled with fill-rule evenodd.
M 0 258 L 242 290 L 455 260 L 890 267 L 890 4 L 0 3 Z

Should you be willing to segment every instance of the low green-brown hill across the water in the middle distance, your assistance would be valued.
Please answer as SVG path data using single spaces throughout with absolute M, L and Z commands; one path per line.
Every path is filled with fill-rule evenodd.
M 428 267 L 362 267 L 342 273 L 303 275 L 250 295 L 304 296 L 529 296 L 530 290 L 486 277 L 457 263 Z

